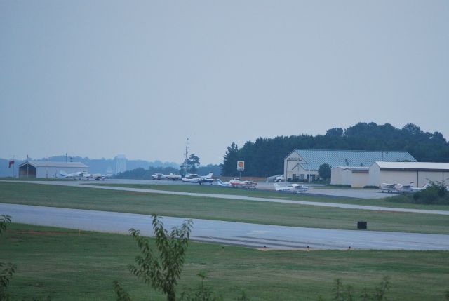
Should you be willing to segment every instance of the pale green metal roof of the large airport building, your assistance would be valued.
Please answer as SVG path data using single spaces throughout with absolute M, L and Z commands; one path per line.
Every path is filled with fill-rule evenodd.
M 295 149 L 304 163 L 305 170 L 318 170 L 321 164 L 328 163 L 331 167 L 337 166 L 371 166 L 375 161 L 416 162 L 408 152 L 396 151 L 353 151 L 353 150 L 326 150 L 326 149 Z

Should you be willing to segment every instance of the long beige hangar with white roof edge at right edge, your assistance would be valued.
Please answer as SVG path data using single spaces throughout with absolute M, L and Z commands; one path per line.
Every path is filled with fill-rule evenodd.
M 370 166 L 368 185 L 413 183 L 423 187 L 430 181 L 449 183 L 449 163 L 377 161 Z

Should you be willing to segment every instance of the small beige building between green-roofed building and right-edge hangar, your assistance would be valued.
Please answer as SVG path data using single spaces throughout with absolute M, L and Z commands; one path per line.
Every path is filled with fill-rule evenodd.
M 330 184 L 365 187 L 368 185 L 369 170 L 368 166 L 337 166 L 330 172 Z

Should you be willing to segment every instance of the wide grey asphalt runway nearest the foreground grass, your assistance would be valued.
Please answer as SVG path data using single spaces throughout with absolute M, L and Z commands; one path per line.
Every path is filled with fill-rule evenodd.
M 149 215 L 7 203 L 0 203 L 0 212 L 11 215 L 13 222 L 31 225 L 122 234 L 135 228 L 140 229 L 143 235 L 152 235 L 152 218 Z M 184 220 L 164 217 L 163 223 L 171 228 L 181 225 Z M 357 250 L 449 250 L 449 235 L 443 234 L 283 227 L 217 220 L 193 221 L 193 241 L 223 245 L 276 250 L 307 250 L 307 246 L 310 250 L 347 250 L 349 247 Z

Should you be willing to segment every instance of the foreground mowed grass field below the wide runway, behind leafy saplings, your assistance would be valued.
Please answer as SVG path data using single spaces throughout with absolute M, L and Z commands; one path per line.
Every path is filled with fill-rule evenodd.
M 13 300 L 115 300 L 119 280 L 133 300 L 164 300 L 128 272 L 138 248 L 130 236 L 69 229 L 8 225 L 0 236 L 0 262 L 18 266 L 8 292 Z M 360 293 L 383 276 L 391 278 L 389 300 L 444 300 L 449 289 L 449 253 L 436 251 L 260 251 L 216 244 L 189 244 L 178 285 L 205 284 L 224 300 L 242 290 L 250 300 L 330 300 L 340 278 Z

